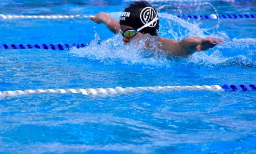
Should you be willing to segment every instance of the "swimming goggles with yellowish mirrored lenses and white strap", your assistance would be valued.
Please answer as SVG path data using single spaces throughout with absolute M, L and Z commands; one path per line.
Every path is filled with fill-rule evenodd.
M 156 11 L 163 9 L 165 7 L 165 5 L 159 7 L 156 9 Z M 122 32 L 122 30 L 119 30 L 119 34 L 121 35 L 121 37 L 127 37 L 127 38 L 131 38 L 134 35 L 136 35 L 140 30 L 142 30 L 143 28 L 146 28 L 148 26 L 150 26 L 151 24 L 153 24 L 156 20 L 158 20 L 158 13 L 156 13 L 156 17 L 149 22 L 148 24 L 145 24 L 144 26 L 142 26 L 141 28 L 138 29 L 132 29 L 132 30 L 126 30 L 125 32 Z

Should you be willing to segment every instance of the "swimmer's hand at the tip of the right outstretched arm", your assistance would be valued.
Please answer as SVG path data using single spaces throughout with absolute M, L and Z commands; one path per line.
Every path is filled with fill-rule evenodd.
M 215 47 L 219 43 L 223 43 L 223 41 L 221 39 L 216 39 L 213 37 L 206 37 L 205 39 L 202 39 L 201 43 L 198 46 L 196 46 L 195 50 L 197 50 L 198 52 L 208 50 Z

